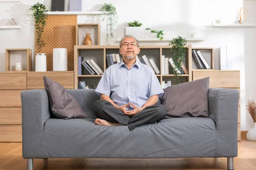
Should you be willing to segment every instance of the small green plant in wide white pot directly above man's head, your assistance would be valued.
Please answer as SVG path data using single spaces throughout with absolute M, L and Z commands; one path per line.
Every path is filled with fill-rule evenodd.
M 144 29 L 141 26 L 143 26 L 143 24 L 139 23 L 137 20 L 134 20 L 134 22 L 129 22 L 128 27 L 125 28 L 125 34 L 131 34 L 136 38 L 142 38 L 144 37 Z

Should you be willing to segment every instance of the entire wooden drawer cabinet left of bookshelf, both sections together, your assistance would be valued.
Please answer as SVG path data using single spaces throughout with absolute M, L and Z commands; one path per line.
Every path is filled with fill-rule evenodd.
M 20 93 L 44 89 L 44 76 L 65 88 L 74 88 L 74 71 L 0 72 L 0 142 L 22 142 Z

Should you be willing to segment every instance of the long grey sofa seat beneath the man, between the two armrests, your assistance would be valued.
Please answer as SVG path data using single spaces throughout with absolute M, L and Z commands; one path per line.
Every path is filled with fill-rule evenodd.
M 156 124 L 95 125 L 94 119 L 48 119 L 42 133 L 43 158 L 214 157 L 211 118 L 172 118 Z

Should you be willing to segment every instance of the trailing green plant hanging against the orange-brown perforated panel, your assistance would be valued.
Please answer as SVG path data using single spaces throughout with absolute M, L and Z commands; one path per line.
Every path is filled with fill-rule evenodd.
M 40 53 L 41 48 L 44 47 L 44 40 L 42 39 L 42 35 L 44 33 L 44 26 L 46 25 L 47 20 L 47 9 L 41 3 L 36 3 L 35 5 L 31 6 L 30 10 L 33 10 L 33 15 L 35 18 L 35 30 L 37 33 L 37 45 L 38 51 Z

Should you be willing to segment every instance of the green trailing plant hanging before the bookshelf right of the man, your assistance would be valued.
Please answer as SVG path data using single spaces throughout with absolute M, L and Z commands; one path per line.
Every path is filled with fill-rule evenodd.
M 186 38 L 183 38 L 180 36 L 172 39 L 169 42 L 169 45 L 172 45 L 172 47 L 170 48 L 173 54 L 172 60 L 175 64 L 175 69 L 177 70 L 182 70 L 182 64 L 185 61 L 186 51 L 187 51 L 187 47 L 185 46 L 186 43 L 187 43 Z M 176 79 L 177 83 L 180 84 L 180 80 L 182 78 L 181 74 L 179 74 L 176 71 L 173 71 L 173 72 L 175 74 L 174 79 Z

